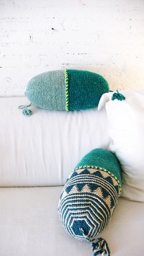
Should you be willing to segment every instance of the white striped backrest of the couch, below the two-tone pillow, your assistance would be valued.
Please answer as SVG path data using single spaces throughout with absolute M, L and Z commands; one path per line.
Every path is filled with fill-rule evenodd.
M 0 98 L 0 186 L 63 185 L 79 160 L 108 147 L 106 111 L 18 109 L 25 97 Z

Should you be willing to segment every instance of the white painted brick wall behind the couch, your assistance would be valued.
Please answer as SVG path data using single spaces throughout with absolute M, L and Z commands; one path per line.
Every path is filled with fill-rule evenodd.
M 0 32 L 1 96 L 65 67 L 144 87 L 144 0 L 0 0 Z

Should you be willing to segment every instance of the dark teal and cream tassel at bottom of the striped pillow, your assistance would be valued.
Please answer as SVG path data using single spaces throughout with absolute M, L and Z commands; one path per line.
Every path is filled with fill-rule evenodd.
M 110 249 L 109 246 L 103 238 L 98 238 L 96 243 L 92 242 L 92 250 L 94 252 L 93 256 L 96 255 L 103 255 L 103 256 L 110 256 Z

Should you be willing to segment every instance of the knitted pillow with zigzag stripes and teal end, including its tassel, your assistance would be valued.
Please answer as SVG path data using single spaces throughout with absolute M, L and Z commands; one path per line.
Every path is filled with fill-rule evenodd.
M 121 167 L 109 150 L 96 148 L 71 172 L 60 195 L 60 221 L 71 236 L 92 242 L 94 255 L 110 255 L 98 235 L 109 223 L 121 194 Z

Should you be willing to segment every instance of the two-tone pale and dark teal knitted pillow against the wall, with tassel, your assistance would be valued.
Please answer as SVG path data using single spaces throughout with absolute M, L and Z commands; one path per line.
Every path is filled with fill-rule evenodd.
M 95 108 L 106 92 L 109 92 L 107 81 L 96 73 L 54 70 L 34 76 L 25 94 L 38 108 L 71 111 Z M 31 114 L 27 106 L 20 106 L 23 107 L 23 114 Z

